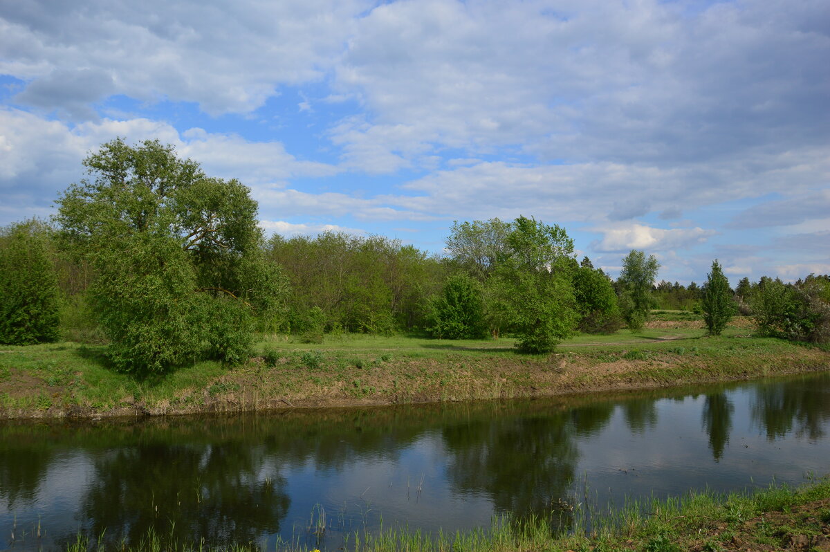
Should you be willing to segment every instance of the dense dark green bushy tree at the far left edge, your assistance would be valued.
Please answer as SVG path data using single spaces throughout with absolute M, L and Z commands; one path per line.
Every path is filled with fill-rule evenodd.
M 0 229 L 0 343 L 57 340 L 58 286 L 48 248 L 46 227 L 36 220 Z

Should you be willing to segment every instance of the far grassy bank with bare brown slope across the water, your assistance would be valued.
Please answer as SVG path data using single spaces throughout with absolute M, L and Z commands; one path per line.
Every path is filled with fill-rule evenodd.
M 675 320 L 672 320 L 675 319 Z M 830 352 L 752 336 L 738 319 L 720 337 L 699 320 L 663 316 L 641 333 L 579 335 L 554 354 L 517 354 L 509 339 L 327 335 L 322 344 L 262 336 L 228 369 L 201 362 L 135 379 L 103 346 L 0 349 L 0 418 L 163 415 L 460 401 L 659 388 L 830 368 Z

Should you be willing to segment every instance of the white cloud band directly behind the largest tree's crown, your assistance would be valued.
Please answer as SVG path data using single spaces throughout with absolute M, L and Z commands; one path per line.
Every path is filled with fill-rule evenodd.
M 82 178 L 86 154 L 115 136 L 130 143 L 159 139 L 173 144 L 179 155 L 199 161 L 206 173 L 238 178 L 253 188 L 254 195 L 286 178 L 338 171 L 296 159 L 279 142 L 251 143 L 235 134 L 203 129 L 179 133 L 167 123 L 147 119 L 88 121 L 71 128 L 26 111 L 0 108 L 0 203 L 18 212 L 47 208 L 60 191 Z

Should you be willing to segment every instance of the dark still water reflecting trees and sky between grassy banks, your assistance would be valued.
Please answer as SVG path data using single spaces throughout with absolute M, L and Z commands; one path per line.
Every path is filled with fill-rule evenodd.
M 5 423 L 0 550 L 63 548 L 104 529 L 105 540 L 138 542 L 149 527 L 212 545 L 281 537 L 334 550 L 381 519 L 470 529 L 507 512 L 550 515 L 586 488 L 602 508 L 798 484 L 830 472 L 828 431 L 830 374 L 509 403 Z

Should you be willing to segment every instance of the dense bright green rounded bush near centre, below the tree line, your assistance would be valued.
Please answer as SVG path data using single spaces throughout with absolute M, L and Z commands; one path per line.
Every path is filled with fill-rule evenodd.
M 438 339 L 475 340 L 485 334 L 481 284 L 469 276 L 451 276 L 432 300 L 427 332 Z

